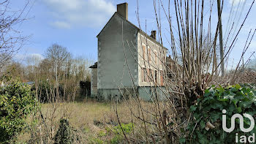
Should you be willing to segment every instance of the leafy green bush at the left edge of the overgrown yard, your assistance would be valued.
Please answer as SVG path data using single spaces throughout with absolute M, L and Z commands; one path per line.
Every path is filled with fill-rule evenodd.
M 26 117 L 37 110 L 37 99 L 31 88 L 19 80 L 9 80 L 0 87 L 0 143 L 26 128 Z

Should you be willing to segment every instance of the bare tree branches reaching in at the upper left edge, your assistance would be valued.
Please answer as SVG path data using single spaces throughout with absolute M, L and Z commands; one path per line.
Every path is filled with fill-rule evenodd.
M 20 35 L 20 31 L 15 27 L 26 20 L 23 13 L 28 4 L 29 1 L 21 10 L 11 11 L 10 0 L 0 2 L 0 68 L 4 67 L 6 61 L 10 60 L 28 39 Z

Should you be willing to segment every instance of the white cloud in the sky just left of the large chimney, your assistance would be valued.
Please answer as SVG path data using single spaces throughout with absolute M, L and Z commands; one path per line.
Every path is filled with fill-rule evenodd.
M 116 11 L 116 7 L 106 0 L 43 1 L 56 19 L 51 24 L 62 29 L 70 29 L 74 26 L 102 26 Z

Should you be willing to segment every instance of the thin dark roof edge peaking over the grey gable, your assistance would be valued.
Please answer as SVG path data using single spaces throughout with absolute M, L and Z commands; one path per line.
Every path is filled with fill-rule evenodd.
M 151 39 L 151 41 L 157 43 L 158 45 L 161 45 L 163 48 L 165 48 L 162 44 L 160 44 L 159 42 L 157 42 L 156 39 L 154 39 L 153 37 L 150 37 L 148 34 L 146 34 L 146 32 L 144 32 L 143 30 L 141 30 L 140 28 L 138 28 L 138 26 L 135 26 L 133 23 L 131 23 L 129 20 L 125 19 L 124 17 L 122 17 L 121 15 L 118 14 L 118 12 L 115 12 L 112 17 L 108 20 L 108 23 L 110 22 L 110 20 L 114 17 L 114 15 L 118 15 L 120 18 L 122 18 L 123 20 L 127 21 L 127 23 L 129 23 L 131 26 L 133 26 L 135 29 L 137 29 L 138 31 L 140 31 L 140 33 L 142 33 L 143 35 L 145 35 L 146 37 L 148 37 L 148 39 Z M 105 24 L 105 26 L 103 27 L 103 29 L 105 29 L 105 27 L 107 26 L 107 24 Z M 97 37 L 99 37 L 99 35 L 102 33 L 103 29 L 99 32 L 99 34 L 97 35 Z M 167 48 L 165 48 L 166 50 L 168 50 Z

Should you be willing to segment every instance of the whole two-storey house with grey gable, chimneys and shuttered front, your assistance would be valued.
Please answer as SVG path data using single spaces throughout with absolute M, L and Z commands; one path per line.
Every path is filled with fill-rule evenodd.
M 165 85 L 167 48 L 128 20 L 128 4 L 117 12 L 97 35 L 98 61 L 91 66 L 91 96 L 113 99 L 138 94 L 149 100 L 151 87 Z

